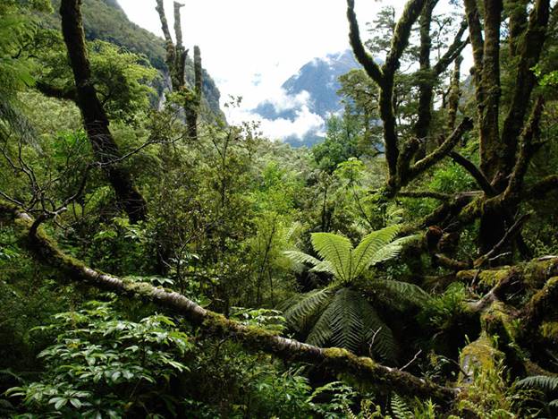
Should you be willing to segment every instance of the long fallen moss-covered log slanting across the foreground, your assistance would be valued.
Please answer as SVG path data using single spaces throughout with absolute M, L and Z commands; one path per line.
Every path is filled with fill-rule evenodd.
M 147 300 L 182 315 L 191 324 L 207 331 L 212 336 L 231 338 L 251 350 L 264 351 L 280 358 L 312 363 L 317 368 L 331 372 L 350 374 L 363 385 L 383 391 L 396 391 L 402 396 L 430 398 L 437 403 L 451 403 L 458 395 L 458 389 L 447 388 L 420 379 L 409 372 L 402 372 L 376 363 L 368 357 L 359 357 L 340 348 L 321 348 L 301 343 L 290 338 L 276 336 L 263 329 L 248 327 L 223 315 L 210 312 L 184 295 L 138 283 L 91 269 L 83 262 L 63 253 L 48 237 L 43 228 L 31 228 L 33 218 L 12 204 L 0 201 L 0 218 L 11 218 L 27 232 L 25 244 L 38 258 L 60 269 L 68 278 L 79 283 Z

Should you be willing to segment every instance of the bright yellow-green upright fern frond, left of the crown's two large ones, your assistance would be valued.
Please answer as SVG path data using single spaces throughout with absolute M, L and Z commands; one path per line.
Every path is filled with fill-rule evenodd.
M 322 259 L 332 264 L 336 278 L 351 280 L 351 240 L 333 233 L 313 233 L 312 245 Z

